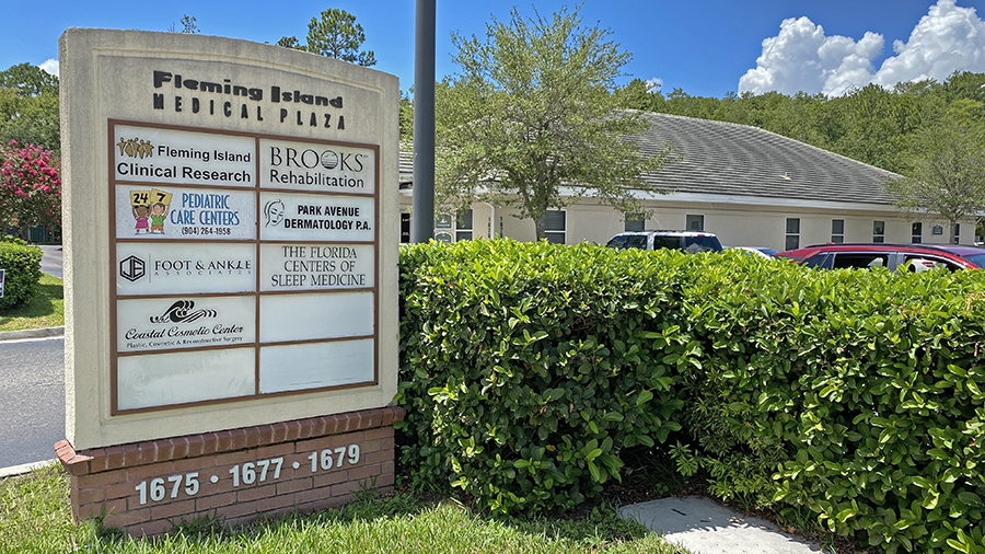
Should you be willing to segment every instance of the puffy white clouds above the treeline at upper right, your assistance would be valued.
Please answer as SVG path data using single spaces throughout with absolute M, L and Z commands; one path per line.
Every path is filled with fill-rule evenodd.
M 927 78 L 942 81 L 955 70 L 985 72 L 985 22 L 974 8 L 960 8 L 955 0 L 931 5 L 909 39 L 895 41 L 895 56 L 876 71 L 873 60 L 883 45 L 878 33 L 867 32 L 856 42 L 825 36 L 808 18 L 784 20 L 779 34 L 763 41 L 756 68 L 739 79 L 739 92 L 842 95 L 870 82 L 892 86 Z

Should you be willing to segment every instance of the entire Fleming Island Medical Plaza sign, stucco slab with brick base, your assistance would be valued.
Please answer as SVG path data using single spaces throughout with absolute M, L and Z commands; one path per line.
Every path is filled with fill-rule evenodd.
M 125 527 L 157 532 L 163 513 L 177 513 L 161 508 L 170 497 L 158 497 L 158 480 L 177 478 L 202 509 L 225 498 L 230 475 L 237 488 L 255 486 L 248 476 L 260 463 L 276 464 L 282 483 L 309 465 L 354 468 L 349 481 L 333 476 L 334 487 L 366 475 L 385 481 L 385 441 L 392 447 L 399 417 L 387 407 L 397 372 L 397 79 L 198 35 L 72 28 L 60 48 L 59 457 L 80 475 L 79 489 L 103 498 L 92 487 L 112 480 L 86 482 L 91 473 L 140 465 L 149 477 L 104 501 L 118 503 Z M 367 429 L 380 429 L 384 442 L 366 442 Z M 325 463 L 309 458 L 334 451 L 327 443 L 297 442 L 339 432 L 332 440 L 346 441 L 346 455 L 329 452 Z M 225 442 L 223 434 L 246 439 Z M 187 468 L 177 477 L 166 475 L 173 466 L 159 477 L 155 465 L 144 468 L 194 458 L 174 445 L 199 441 L 211 446 L 198 454 L 254 460 L 229 475 L 211 471 L 207 482 Z M 280 450 L 251 450 L 264 445 Z M 117 459 L 115 449 L 140 453 Z M 76 496 L 77 517 L 96 510 Z M 327 497 L 277 496 L 296 505 Z

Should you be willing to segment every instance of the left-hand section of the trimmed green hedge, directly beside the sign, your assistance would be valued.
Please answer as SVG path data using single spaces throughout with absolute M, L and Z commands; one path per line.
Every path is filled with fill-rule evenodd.
M 680 429 L 685 256 L 464 241 L 405 247 L 401 424 L 415 478 L 494 511 L 566 508 L 621 449 Z

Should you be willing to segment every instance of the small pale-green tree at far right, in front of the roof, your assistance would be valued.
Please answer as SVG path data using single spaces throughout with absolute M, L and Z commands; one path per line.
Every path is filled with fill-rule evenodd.
M 985 210 L 985 128 L 962 119 L 951 113 L 913 134 L 906 176 L 885 184 L 901 211 L 929 212 L 953 229 Z

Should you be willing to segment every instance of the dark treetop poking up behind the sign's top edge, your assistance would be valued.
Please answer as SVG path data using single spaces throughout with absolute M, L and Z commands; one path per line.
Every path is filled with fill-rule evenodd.
M 283 36 L 277 45 L 364 67 L 376 65 L 372 50 L 359 50 L 366 42 L 366 33 L 362 25 L 356 23 L 356 16 L 345 10 L 329 8 L 322 12 L 321 18 L 312 18 L 305 39 L 308 43 L 302 46 L 298 37 Z

